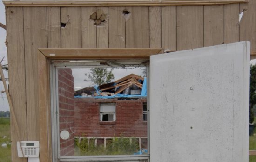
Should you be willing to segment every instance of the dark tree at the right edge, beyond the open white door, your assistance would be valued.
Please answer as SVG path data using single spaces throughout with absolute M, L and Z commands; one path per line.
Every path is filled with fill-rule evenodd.
M 253 106 L 256 104 L 256 65 L 250 65 L 250 123 L 254 121 Z

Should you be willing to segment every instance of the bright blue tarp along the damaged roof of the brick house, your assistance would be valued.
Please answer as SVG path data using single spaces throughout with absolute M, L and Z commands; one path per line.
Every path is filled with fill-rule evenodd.
M 113 99 L 113 98 L 121 98 L 121 97 L 124 97 L 124 98 L 133 98 L 133 97 L 147 97 L 147 78 L 144 77 L 144 81 L 143 81 L 143 86 L 142 86 L 142 89 L 141 89 L 141 94 L 140 95 L 128 95 L 128 94 L 116 94 L 116 95 L 113 95 L 113 96 L 101 96 L 100 93 L 99 93 L 99 87 L 96 85 L 94 86 L 96 92 L 98 93 L 99 96 L 92 96 L 94 97 L 95 99 Z M 88 96 L 74 96 L 74 98 L 88 98 Z M 90 98 L 90 97 L 89 97 Z

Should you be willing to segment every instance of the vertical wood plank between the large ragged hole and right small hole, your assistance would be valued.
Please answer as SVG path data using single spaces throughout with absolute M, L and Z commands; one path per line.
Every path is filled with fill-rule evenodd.
M 125 48 L 124 7 L 108 7 L 109 48 Z

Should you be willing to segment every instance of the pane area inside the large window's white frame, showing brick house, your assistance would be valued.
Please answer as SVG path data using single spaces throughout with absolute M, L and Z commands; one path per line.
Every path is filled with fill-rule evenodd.
M 148 154 L 143 68 L 107 68 L 108 82 L 90 79 L 93 70 L 57 70 L 60 155 Z

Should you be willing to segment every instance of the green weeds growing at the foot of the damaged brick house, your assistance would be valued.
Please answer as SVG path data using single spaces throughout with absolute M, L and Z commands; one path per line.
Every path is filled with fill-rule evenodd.
M 107 142 L 106 148 L 104 145 L 94 145 L 94 139 L 88 144 L 88 139 L 82 139 L 79 143 L 78 140 L 75 141 L 76 154 L 78 156 L 86 155 L 131 155 L 139 150 L 139 144 L 136 139 L 128 138 L 116 138 L 114 137 L 112 141 Z

